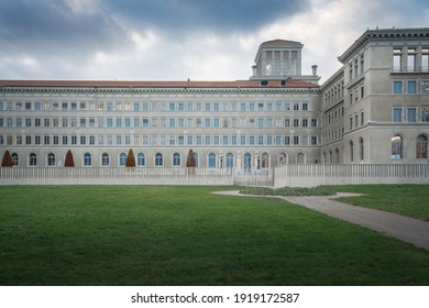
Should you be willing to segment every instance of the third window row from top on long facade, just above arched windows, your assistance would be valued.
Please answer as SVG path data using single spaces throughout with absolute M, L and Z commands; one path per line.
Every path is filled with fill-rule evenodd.
M 3 135 L 0 145 L 317 145 L 317 135 Z

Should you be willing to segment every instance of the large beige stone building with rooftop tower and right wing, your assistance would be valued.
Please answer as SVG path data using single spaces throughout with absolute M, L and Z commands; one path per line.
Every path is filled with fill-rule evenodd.
M 0 158 L 13 164 L 428 164 L 429 29 L 369 30 L 319 86 L 302 44 L 261 44 L 249 80 L 0 80 Z

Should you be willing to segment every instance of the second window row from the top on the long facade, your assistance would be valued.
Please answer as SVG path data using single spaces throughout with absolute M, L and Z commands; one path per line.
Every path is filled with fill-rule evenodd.
M 96 124 L 97 122 L 97 124 Z M 317 118 L 21 118 L 0 117 L 0 128 L 317 128 Z

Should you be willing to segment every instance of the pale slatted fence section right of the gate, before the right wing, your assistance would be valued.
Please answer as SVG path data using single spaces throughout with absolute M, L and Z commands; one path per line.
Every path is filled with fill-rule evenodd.
M 429 165 L 285 165 L 274 168 L 274 188 L 346 184 L 429 184 Z

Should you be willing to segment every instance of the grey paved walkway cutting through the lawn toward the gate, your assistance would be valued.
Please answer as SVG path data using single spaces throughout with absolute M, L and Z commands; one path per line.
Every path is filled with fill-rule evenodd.
M 216 194 L 241 196 L 241 197 L 264 197 L 241 195 L 239 190 L 217 191 Z M 330 197 L 282 197 L 275 196 L 288 202 L 300 205 L 317 210 L 328 216 L 355 224 L 366 227 L 385 233 L 389 237 L 411 243 L 418 248 L 429 251 L 429 222 L 363 207 L 350 206 L 336 200 L 339 197 L 359 196 L 358 194 L 340 193 Z M 274 196 L 267 196 L 274 197 Z

